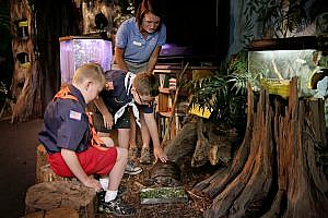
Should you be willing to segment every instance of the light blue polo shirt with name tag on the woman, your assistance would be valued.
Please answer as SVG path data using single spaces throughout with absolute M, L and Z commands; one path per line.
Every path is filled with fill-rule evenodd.
M 116 33 L 116 46 L 125 49 L 124 59 L 132 63 L 148 62 L 156 46 L 166 40 L 166 26 L 162 23 L 159 31 L 144 39 L 139 31 L 136 17 L 126 20 Z

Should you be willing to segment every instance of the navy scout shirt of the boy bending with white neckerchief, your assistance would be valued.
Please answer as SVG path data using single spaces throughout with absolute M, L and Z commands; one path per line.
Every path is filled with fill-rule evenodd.
M 110 112 L 116 112 L 121 107 L 132 101 L 132 95 L 125 87 L 126 72 L 122 70 L 109 70 L 105 72 L 106 81 L 113 82 L 113 90 L 102 90 L 99 94 Z M 137 105 L 137 104 L 136 104 Z M 147 105 L 140 105 L 139 108 L 142 109 L 144 113 L 152 113 L 153 107 Z M 114 116 L 113 113 L 113 116 Z

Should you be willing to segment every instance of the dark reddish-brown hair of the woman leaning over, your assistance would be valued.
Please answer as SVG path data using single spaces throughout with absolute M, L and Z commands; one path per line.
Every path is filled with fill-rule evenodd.
M 143 0 L 140 5 L 138 7 L 138 10 L 136 12 L 136 20 L 138 23 L 138 26 L 141 26 L 142 20 L 144 17 L 144 14 L 152 13 L 161 19 L 161 23 L 163 20 L 163 10 L 161 0 Z M 159 26 L 160 29 L 161 26 Z

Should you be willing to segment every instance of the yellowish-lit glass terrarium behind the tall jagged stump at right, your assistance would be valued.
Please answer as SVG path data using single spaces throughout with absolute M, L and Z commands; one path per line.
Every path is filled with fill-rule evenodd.
M 288 97 L 290 80 L 297 76 L 300 97 L 323 98 L 327 69 L 327 50 L 319 48 L 316 37 L 254 40 L 248 51 L 248 71 L 256 78 L 253 87 L 265 85 L 282 97 Z

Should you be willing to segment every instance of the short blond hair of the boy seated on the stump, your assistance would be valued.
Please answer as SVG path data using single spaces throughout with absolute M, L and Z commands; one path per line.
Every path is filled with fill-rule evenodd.
M 102 66 L 97 63 L 85 63 L 81 65 L 73 75 L 73 83 L 81 84 L 86 78 L 91 78 L 105 86 L 106 78 Z

